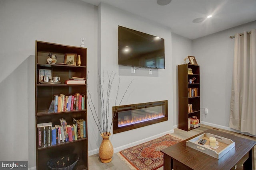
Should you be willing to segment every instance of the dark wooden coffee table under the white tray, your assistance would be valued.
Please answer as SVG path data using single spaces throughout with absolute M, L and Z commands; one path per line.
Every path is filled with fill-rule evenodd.
M 231 139 L 235 142 L 235 147 L 220 159 L 216 159 L 186 146 L 186 141 L 203 133 Z M 254 170 L 254 145 L 256 145 L 256 141 L 214 129 L 209 129 L 198 135 L 161 150 L 164 153 L 164 170 Z

